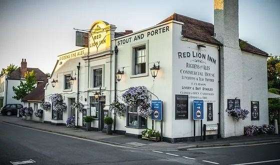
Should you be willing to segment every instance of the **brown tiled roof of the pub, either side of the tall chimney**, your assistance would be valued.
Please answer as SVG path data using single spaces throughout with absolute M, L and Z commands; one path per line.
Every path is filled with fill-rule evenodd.
M 162 20 L 160 23 L 169 20 L 176 20 L 179 22 L 183 22 L 182 36 L 185 38 L 222 45 L 218 40 L 214 38 L 214 25 L 212 23 L 194 19 L 177 13 L 173 13 L 166 19 Z M 242 40 L 239 39 L 239 45 L 240 45 L 240 41 Z M 240 46 L 240 49 L 242 51 L 252 52 L 260 55 L 265 55 L 265 56 L 268 55 L 268 53 L 266 53 L 265 51 L 262 51 L 261 49 L 247 42 L 243 46 Z

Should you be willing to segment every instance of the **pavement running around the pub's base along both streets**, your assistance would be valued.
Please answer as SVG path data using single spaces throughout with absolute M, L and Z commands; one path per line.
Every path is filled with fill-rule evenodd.
M 81 137 L 81 138 L 111 143 L 115 145 L 124 145 L 124 146 L 141 148 L 141 149 L 187 150 L 189 148 L 197 148 L 197 147 L 233 146 L 233 145 L 258 144 L 258 143 L 280 141 L 279 135 L 257 135 L 257 136 L 235 136 L 235 137 L 211 139 L 205 141 L 185 141 L 185 142 L 177 142 L 177 143 L 168 143 L 164 141 L 162 142 L 148 141 L 140 138 L 135 138 L 126 135 L 119 135 L 119 134 L 108 135 L 101 131 L 85 131 L 84 129 L 69 128 L 63 125 L 53 125 L 49 123 L 42 123 L 42 122 L 37 122 L 32 120 L 23 120 L 21 118 L 17 118 L 16 116 L 0 115 L 0 122 L 21 125 L 29 128 L 48 131 L 48 132 L 55 132 L 64 135 L 71 135 L 75 137 Z

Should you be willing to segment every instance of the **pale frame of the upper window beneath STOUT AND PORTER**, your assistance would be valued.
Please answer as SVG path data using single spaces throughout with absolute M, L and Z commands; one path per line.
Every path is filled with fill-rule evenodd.
M 140 47 L 140 46 L 145 46 L 145 72 L 144 73 L 139 73 L 135 74 L 135 62 L 136 62 L 136 54 L 135 54 L 135 49 Z M 149 74 L 149 68 L 148 68 L 148 40 L 143 40 L 140 42 L 132 43 L 131 44 L 131 49 L 130 49 L 130 62 L 131 62 L 131 70 L 130 70 L 130 78 L 134 77 L 141 77 L 141 76 L 148 76 Z

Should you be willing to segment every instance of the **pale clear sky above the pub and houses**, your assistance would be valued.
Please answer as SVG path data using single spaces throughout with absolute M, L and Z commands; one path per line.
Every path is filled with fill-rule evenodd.
M 75 30 L 101 19 L 116 31 L 153 26 L 173 12 L 214 22 L 213 0 L 0 0 L 0 68 L 13 63 L 51 72 L 75 46 Z M 239 0 L 239 38 L 280 55 L 280 0 Z

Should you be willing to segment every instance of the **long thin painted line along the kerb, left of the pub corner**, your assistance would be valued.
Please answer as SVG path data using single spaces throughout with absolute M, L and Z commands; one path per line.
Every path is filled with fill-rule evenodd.
M 36 128 L 25 127 L 25 126 L 16 125 L 16 124 L 7 123 L 7 122 L 2 122 L 2 123 L 9 124 L 9 125 L 14 125 L 14 126 L 18 126 L 18 127 L 24 127 L 24 128 L 26 128 L 26 129 L 32 129 L 32 130 L 42 131 L 42 132 L 46 132 L 46 133 L 50 133 L 50 134 L 56 134 L 56 135 L 60 135 L 60 136 L 66 136 L 66 137 L 76 138 L 76 139 L 80 139 L 80 140 L 96 142 L 96 143 L 105 144 L 105 145 L 110 145 L 110 146 L 116 146 L 116 147 L 122 147 L 122 148 L 141 149 L 141 148 L 134 148 L 134 147 L 129 147 L 129 146 L 114 145 L 114 144 L 105 143 L 105 142 L 102 142 L 102 141 L 97 141 L 97 140 L 92 140 L 92 139 L 87 139 L 87 138 L 81 138 L 81 137 L 75 137 L 75 136 L 66 135 L 66 134 L 61 134 L 61 133 L 49 132 L 49 131 L 46 131 L 46 130 L 40 130 L 40 129 L 36 129 Z

